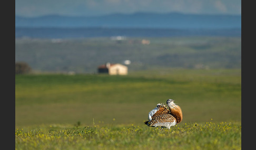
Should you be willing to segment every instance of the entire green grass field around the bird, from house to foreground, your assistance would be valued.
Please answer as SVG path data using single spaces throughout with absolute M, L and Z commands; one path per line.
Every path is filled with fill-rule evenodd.
M 15 78 L 17 149 L 241 149 L 241 69 Z M 167 99 L 183 121 L 170 131 L 144 125 Z

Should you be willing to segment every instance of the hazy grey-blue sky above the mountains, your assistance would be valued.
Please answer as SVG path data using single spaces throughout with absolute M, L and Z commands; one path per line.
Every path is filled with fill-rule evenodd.
M 241 0 L 15 0 L 15 14 L 28 17 L 135 12 L 241 15 Z

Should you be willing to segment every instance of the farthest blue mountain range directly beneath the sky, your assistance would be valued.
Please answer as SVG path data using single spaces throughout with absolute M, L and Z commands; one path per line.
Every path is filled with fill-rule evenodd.
M 15 27 L 237 29 L 241 28 L 241 15 L 134 13 L 91 17 L 60 15 L 41 17 L 15 16 Z

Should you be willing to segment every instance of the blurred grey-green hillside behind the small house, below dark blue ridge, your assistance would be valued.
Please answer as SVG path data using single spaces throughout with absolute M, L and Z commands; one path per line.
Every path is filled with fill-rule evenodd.
M 141 44 L 150 40 L 149 45 Z M 36 72 L 95 73 L 106 62 L 131 60 L 130 71 L 154 68 L 241 69 L 241 37 L 16 38 L 15 61 Z

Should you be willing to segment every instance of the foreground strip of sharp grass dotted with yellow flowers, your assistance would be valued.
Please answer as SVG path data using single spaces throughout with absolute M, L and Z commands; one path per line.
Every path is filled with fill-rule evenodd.
M 239 123 L 16 128 L 16 149 L 241 149 Z

